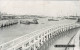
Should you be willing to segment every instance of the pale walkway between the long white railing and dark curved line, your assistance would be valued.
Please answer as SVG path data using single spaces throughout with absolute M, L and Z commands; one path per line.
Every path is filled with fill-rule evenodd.
M 56 36 L 54 37 L 54 39 L 50 39 L 49 41 L 47 41 L 41 48 L 40 50 L 64 50 L 65 48 L 62 47 L 54 47 L 54 45 L 56 44 L 68 44 L 69 40 L 71 39 L 71 37 L 74 36 L 74 34 L 77 33 L 78 29 L 72 29 L 66 32 L 61 33 L 61 36 Z

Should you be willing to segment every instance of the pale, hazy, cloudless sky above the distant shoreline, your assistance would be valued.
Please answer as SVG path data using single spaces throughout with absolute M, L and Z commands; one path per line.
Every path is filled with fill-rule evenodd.
M 80 15 L 80 1 L 0 0 L 0 11 L 16 15 Z

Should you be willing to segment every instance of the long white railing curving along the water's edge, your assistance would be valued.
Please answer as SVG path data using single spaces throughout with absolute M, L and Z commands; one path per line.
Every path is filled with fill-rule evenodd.
M 51 36 L 77 27 L 80 27 L 80 25 L 77 23 L 49 26 L 1 44 L 0 50 L 36 50 L 36 48 L 39 48 L 40 45 L 48 40 L 48 38 Z

